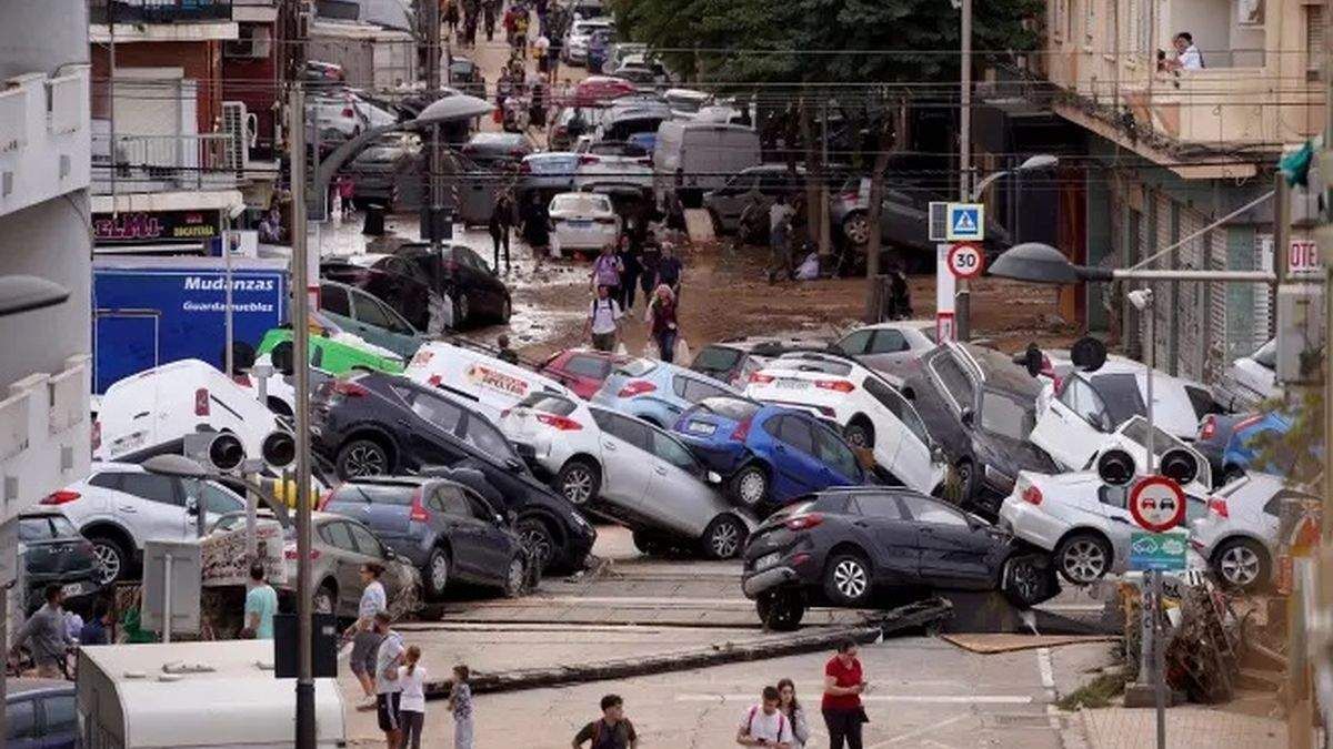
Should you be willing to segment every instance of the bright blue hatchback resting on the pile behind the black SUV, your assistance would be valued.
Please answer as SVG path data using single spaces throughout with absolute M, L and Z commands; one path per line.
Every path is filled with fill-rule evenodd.
M 841 434 L 801 410 L 710 397 L 681 414 L 674 432 L 761 516 L 829 486 L 870 482 Z

